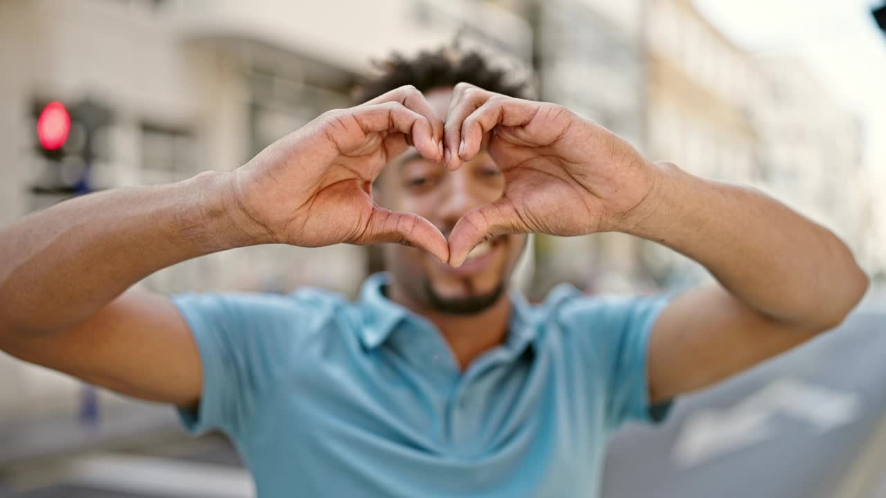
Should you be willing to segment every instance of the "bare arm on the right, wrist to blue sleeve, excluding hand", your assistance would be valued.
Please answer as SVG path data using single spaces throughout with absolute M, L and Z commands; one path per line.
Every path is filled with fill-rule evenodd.
M 834 328 L 867 276 L 833 233 L 766 195 L 658 163 L 628 233 L 686 254 L 720 285 L 686 292 L 658 319 L 653 400 L 710 385 Z

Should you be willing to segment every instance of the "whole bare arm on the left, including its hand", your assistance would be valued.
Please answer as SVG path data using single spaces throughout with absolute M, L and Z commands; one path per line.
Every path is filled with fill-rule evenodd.
M 164 296 L 130 286 L 179 261 L 265 243 L 416 245 L 447 261 L 416 214 L 367 188 L 409 142 L 441 160 L 443 123 L 415 88 L 324 113 L 230 173 L 105 191 L 0 230 L 0 349 L 97 385 L 192 406 L 197 346 Z

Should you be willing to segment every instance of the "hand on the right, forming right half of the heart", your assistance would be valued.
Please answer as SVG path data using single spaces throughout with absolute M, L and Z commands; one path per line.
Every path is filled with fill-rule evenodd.
M 562 105 L 459 83 L 444 128 L 447 167 L 476 156 L 485 136 L 505 190 L 455 223 L 448 239 L 455 267 L 474 246 L 501 234 L 626 231 L 653 191 L 654 164 L 608 129 Z

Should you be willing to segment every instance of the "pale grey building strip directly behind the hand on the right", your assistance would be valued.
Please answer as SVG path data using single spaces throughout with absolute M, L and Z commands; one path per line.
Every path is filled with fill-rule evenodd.
M 541 97 L 565 105 L 643 150 L 643 2 L 538 3 Z M 540 239 L 540 290 L 569 281 L 588 292 L 641 287 L 641 241 L 619 233 Z

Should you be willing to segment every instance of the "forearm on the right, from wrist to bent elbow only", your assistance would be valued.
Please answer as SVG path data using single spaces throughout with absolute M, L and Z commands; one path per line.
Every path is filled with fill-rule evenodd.
M 698 261 L 761 314 L 827 329 L 867 290 L 867 276 L 829 230 L 758 191 L 656 167 L 655 187 L 626 231 Z

